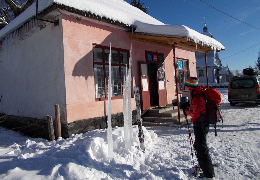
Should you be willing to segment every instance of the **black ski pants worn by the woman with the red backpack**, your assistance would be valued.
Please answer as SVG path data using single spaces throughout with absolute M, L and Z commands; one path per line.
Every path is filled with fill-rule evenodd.
M 214 167 L 209 155 L 209 148 L 207 146 L 207 133 L 209 132 L 209 124 L 205 121 L 193 122 L 193 129 L 195 135 L 194 148 L 197 152 L 199 166 L 202 168 L 205 177 L 215 177 Z

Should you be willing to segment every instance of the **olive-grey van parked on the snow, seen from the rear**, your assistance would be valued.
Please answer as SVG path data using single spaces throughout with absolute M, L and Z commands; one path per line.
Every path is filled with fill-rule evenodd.
M 260 76 L 234 76 L 228 85 L 228 101 L 231 106 L 238 103 L 260 105 Z

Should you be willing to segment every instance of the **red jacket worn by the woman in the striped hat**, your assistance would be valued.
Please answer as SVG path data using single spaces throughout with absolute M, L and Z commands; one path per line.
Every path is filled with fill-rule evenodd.
M 204 85 L 198 85 L 194 89 L 195 96 L 192 98 L 193 106 L 190 106 L 189 109 L 186 109 L 186 113 L 191 116 L 191 122 L 201 121 L 199 119 L 201 113 L 206 114 L 206 102 L 205 97 L 202 94 L 206 90 Z

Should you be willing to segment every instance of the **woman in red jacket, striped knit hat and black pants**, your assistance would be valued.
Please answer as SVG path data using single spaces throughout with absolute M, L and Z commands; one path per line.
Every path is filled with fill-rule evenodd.
M 206 90 L 204 85 L 198 85 L 197 77 L 189 77 L 185 81 L 185 87 L 189 89 L 190 103 L 182 107 L 183 113 L 191 116 L 194 129 L 194 148 L 197 151 L 199 166 L 202 168 L 205 177 L 215 177 L 213 164 L 207 146 L 207 133 L 209 124 L 206 121 L 206 102 L 203 92 Z

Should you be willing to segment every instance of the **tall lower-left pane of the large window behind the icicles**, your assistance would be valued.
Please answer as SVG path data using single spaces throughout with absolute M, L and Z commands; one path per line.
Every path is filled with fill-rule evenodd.
M 105 81 L 103 65 L 94 64 L 96 98 L 105 97 Z

